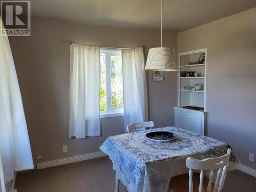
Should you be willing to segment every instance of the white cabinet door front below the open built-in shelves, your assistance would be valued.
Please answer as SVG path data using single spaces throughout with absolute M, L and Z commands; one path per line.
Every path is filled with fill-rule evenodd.
M 175 126 L 204 135 L 202 115 L 175 110 Z

